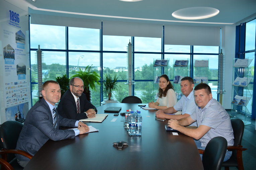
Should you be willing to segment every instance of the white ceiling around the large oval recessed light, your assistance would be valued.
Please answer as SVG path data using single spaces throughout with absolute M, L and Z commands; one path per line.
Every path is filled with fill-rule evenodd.
M 147 22 L 160 24 L 197 25 L 210 23 L 233 24 L 244 18 L 256 16 L 256 0 L 25 0 L 32 9 L 70 13 L 88 19 Z M 172 16 L 176 10 L 189 7 L 212 7 L 220 10 L 214 17 L 200 20 L 182 20 Z M 95 16 L 96 15 L 96 16 Z M 185 22 L 185 23 L 184 23 Z M 208 25 L 208 24 L 207 24 Z

